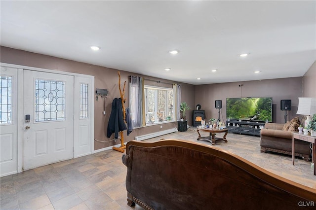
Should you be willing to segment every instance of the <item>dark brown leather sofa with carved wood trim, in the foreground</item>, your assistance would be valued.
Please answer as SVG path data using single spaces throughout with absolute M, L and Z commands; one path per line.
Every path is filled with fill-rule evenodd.
M 122 162 L 127 204 L 145 210 L 315 208 L 316 189 L 201 143 L 129 141 Z M 307 202 L 308 207 L 299 206 Z

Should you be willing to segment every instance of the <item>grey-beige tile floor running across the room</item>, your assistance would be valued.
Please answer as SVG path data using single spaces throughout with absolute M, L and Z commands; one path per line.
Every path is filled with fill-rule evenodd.
M 219 136 L 221 134 L 218 134 Z M 203 135 L 202 135 L 203 136 Z M 216 147 L 233 152 L 254 164 L 316 189 L 310 162 L 276 153 L 260 153 L 260 138 L 228 134 Z M 150 140 L 197 141 L 197 132 L 177 132 Z M 211 145 L 208 141 L 198 141 Z M 126 167 L 122 153 L 107 150 L 0 178 L 1 210 L 131 210 L 126 205 Z M 136 207 L 136 209 L 141 209 Z

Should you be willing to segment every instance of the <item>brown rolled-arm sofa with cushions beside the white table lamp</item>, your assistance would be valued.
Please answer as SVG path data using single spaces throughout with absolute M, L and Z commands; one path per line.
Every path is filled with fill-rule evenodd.
M 292 155 L 292 132 L 282 130 L 284 124 L 266 123 L 261 129 L 260 146 L 261 152 L 278 152 Z M 302 140 L 295 140 L 295 156 L 303 157 L 305 161 L 310 158 L 310 143 Z

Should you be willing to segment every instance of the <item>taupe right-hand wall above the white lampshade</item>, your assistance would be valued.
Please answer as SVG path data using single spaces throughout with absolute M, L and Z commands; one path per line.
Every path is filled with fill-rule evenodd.
M 303 76 L 303 96 L 316 98 L 316 61 Z

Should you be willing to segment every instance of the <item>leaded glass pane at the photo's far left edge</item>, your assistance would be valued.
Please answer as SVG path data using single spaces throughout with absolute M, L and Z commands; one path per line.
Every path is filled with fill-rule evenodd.
M 12 119 L 12 76 L 1 76 L 1 87 L 0 87 L 0 120 L 1 124 L 11 124 Z

